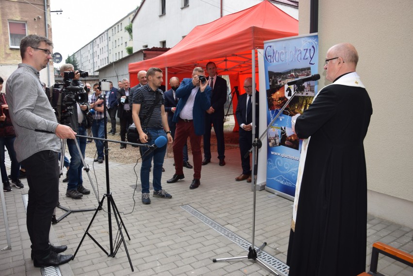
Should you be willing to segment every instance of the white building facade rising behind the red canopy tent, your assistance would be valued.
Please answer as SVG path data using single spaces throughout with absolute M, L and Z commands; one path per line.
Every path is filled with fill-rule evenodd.
M 133 51 L 151 47 L 172 48 L 195 26 L 239 12 L 262 1 L 143 0 L 132 20 Z M 298 20 L 298 1 L 270 2 Z

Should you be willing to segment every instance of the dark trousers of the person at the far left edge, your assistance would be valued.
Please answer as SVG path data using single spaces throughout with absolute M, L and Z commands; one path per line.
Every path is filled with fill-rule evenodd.
M 10 173 L 12 175 L 12 180 L 16 180 L 20 176 L 20 163 L 16 159 L 16 151 L 13 147 L 16 137 L 0 137 L 0 170 L 1 170 L 1 180 L 4 182 L 9 181 L 7 177 L 6 165 L 4 164 L 5 151 L 4 146 L 6 146 L 7 151 L 9 152 L 11 164 Z

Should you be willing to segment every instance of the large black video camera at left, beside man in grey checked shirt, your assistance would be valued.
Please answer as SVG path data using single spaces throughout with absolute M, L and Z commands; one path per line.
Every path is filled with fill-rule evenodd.
M 88 72 L 78 70 L 80 76 L 85 78 L 89 76 Z M 88 103 L 88 93 L 81 86 L 70 86 L 71 81 L 75 78 L 75 72 L 64 72 L 63 83 L 53 85 L 51 105 L 55 111 L 57 120 L 60 124 L 70 126 L 70 116 L 73 114 L 73 106 Z

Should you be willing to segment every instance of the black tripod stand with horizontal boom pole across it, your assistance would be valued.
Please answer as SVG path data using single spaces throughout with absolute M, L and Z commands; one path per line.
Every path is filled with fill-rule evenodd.
M 104 93 L 102 91 L 102 93 Z M 119 250 L 119 247 L 121 246 L 121 244 L 123 244 L 125 246 L 125 251 L 126 251 L 126 255 L 127 255 L 127 259 L 129 260 L 129 264 L 130 264 L 130 268 L 133 270 L 133 266 L 132 266 L 132 261 L 130 260 L 130 256 L 129 256 L 129 252 L 127 251 L 127 246 L 125 243 L 125 238 L 122 232 L 122 228 L 124 228 L 125 233 L 127 235 L 128 240 L 130 241 L 130 237 L 129 234 L 127 233 L 127 229 L 125 227 L 125 224 L 120 216 L 119 210 L 116 207 L 115 201 L 113 199 L 113 196 L 111 194 L 111 189 L 110 189 L 110 183 L 109 183 L 109 149 L 108 149 L 108 142 L 113 142 L 113 143 L 119 143 L 119 144 L 129 144 L 129 145 L 134 145 L 134 146 L 146 146 L 149 147 L 148 145 L 144 145 L 144 144 L 134 144 L 134 143 L 128 143 L 128 142 L 121 142 L 121 141 L 116 141 L 116 140 L 108 140 L 108 135 L 107 135 L 107 126 L 106 126 L 106 95 L 103 95 L 103 105 L 104 105 L 104 109 L 103 109 L 103 113 L 104 113 L 104 126 L 105 126 L 105 139 L 102 138 L 96 138 L 96 137 L 88 137 L 88 136 L 81 136 L 81 135 L 75 135 L 77 137 L 85 137 L 85 138 L 89 138 L 89 139 L 94 139 L 94 140 L 100 140 L 104 143 L 104 154 L 105 154 L 105 173 L 106 173 L 106 194 L 103 195 L 102 200 L 100 200 L 99 202 L 99 207 L 98 209 L 95 211 L 95 214 L 92 217 L 92 220 L 89 223 L 89 226 L 86 228 L 86 231 L 82 237 L 82 239 L 80 240 L 79 246 L 76 249 L 75 254 L 73 255 L 73 259 L 75 259 L 76 254 L 79 251 L 80 245 L 83 243 L 84 238 L 86 237 L 86 235 L 88 235 L 94 242 L 95 244 L 97 244 L 97 246 L 99 246 L 100 249 L 102 249 L 103 252 L 105 252 L 106 255 L 108 255 L 108 257 L 115 257 L 116 253 Z M 109 250 L 110 252 L 108 253 L 105 248 L 103 248 L 102 245 L 100 245 L 95 238 L 89 233 L 89 229 L 92 226 L 93 221 L 95 220 L 95 217 L 97 215 L 97 211 L 99 211 L 99 209 L 102 208 L 103 202 L 105 200 L 105 198 L 108 201 L 108 227 L 109 227 Z M 111 212 L 111 210 L 113 210 L 113 212 Z M 116 220 L 116 224 L 118 226 L 118 233 L 116 235 L 116 238 L 113 240 L 113 235 L 112 235 L 112 215 L 114 215 L 115 220 Z

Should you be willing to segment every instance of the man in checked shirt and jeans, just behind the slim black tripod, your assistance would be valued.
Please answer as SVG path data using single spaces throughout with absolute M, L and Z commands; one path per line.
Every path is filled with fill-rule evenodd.
M 89 99 L 90 108 L 95 110 L 95 114 L 93 114 L 93 124 L 92 124 L 92 133 L 93 137 L 96 138 L 105 138 L 105 114 L 104 106 L 103 106 L 103 94 L 100 90 L 99 83 L 95 83 L 93 85 L 93 90 L 95 91 L 92 94 L 92 97 Z M 105 157 L 103 155 L 103 142 L 100 140 L 95 140 L 96 149 L 97 149 L 97 158 L 94 160 L 99 164 L 103 163 Z

